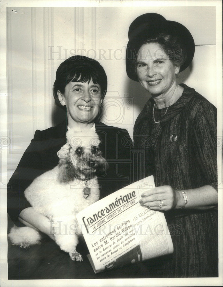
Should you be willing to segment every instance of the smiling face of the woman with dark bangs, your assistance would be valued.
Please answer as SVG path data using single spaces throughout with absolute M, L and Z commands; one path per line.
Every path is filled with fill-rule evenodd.
M 68 124 L 91 123 L 97 116 L 102 102 L 101 87 L 94 84 L 92 79 L 88 83 L 69 82 L 65 92 L 57 91 L 59 101 L 67 108 Z

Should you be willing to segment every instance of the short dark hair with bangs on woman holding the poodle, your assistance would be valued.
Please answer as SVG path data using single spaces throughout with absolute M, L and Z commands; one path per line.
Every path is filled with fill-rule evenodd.
M 103 99 L 107 92 L 107 76 L 103 67 L 96 60 L 76 55 L 63 61 L 57 69 L 56 80 L 53 85 L 53 97 L 56 105 L 66 109 L 59 102 L 58 90 L 63 94 L 69 82 L 89 83 L 91 79 L 94 84 L 100 85 L 101 98 Z

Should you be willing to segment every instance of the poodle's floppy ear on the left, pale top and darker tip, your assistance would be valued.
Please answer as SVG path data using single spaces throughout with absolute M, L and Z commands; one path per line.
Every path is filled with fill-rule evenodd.
M 71 146 L 69 144 L 65 144 L 57 152 L 57 156 L 59 157 L 58 179 L 62 183 L 68 183 L 69 181 L 72 181 L 75 177 L 75 169 L 70 161 L 69 156 L 70 148 Z

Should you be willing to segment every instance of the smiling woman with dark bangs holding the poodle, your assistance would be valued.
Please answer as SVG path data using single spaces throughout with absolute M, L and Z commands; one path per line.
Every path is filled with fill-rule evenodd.
M 129 184 L 130 168 L 124 168 L 130 159 L 129 134 L 101 123 L 98 117 L 106 91 L 107 76 L 96 60 L 73 56 L 58 67 L 53 95 L 56 104 L 66 109 L 67 118 L 55 127 L 35 132 L 9 180 L 8 214 L 16 225 L 34 227 L 53 239 L 49 219 L 31 207 L 24 190 L 37 176 L 58 164 L 57 152 L 66 144 L 67 129 L 78 126 L 86 134 L 95 129 L 99 135 L 100 150 L 109 165 L 105 174 L 98 175 L 101 198 Z

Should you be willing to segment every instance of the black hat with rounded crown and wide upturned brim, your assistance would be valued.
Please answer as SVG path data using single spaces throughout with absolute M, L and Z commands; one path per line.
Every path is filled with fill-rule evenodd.
M 157 13 L 146 13 L 137 17 L 129 27 L 129 42 L 126 47 L 126 72 L 130 79 L 138 82 L 135 70 L 135 60 L 137 53 L 148 38 L 153 38 L 159 34 L 175 36 L 184 47 L 187 56 L 180 66 L 180 72 L 185 70 L 194 57 L 194 39 L 188 29 L 175 21 L 168 21 Z

